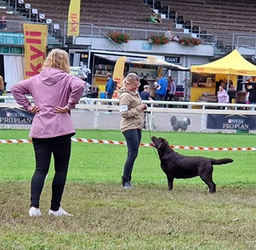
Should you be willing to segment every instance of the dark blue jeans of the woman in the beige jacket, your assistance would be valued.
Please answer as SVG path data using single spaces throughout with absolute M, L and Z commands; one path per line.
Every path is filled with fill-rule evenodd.
M 124 164 L 123 184 L 124 182 L 132 179 L 132 168 L 135 163 L 135 159 L 138 156 L 138 151 L 141 141 L 141 130 L 131 129 L 123 132 L 125 140 L 127 141 L 127 160 Z

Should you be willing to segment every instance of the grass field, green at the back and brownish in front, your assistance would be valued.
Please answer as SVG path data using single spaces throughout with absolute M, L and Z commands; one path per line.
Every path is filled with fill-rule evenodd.
M 27 130 L 0 130 L 0 139 L 28 138 Z M 154 133 L 172 145 L 255 147 L 255 135 Z M 76 138 L 124 141 L 119 131 L 78 130 Z M 143 132 L 143 142 L 150 141 Z M 72 218 L 49 218 L 50 169 L 40 218 L 29 218 L 32 144 L 0 144 L 0 249 L 256 249 L 255 151 L 177 150 L 183 155 L 231 157 L 214 168 L 217 193 L 199 178 L 175 180 L 167 191 L 153 148 L 141 147 L 132 175 L 135 190 L 122 190 L 127 148 L 72 143 L 62 206 Z

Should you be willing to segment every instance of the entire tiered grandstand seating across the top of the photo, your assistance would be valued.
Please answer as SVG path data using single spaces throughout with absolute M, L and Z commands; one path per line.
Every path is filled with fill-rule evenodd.
M 9 4 L 10 2 L 10 4 Z M 32 15 L 24 4 L 17 4 L 18 15 L 13 11 L 15 0 L 3 1 L 0 6 L 0 15 L 6 15 L 7 20 L 23 21 L 31 20 L 45 22 L 46 19 L 58 23 L 59 36 L 64 34 L 64 23 L 67 22 L 69 11 L 69 0 L 26 0 L 26 4 L 31 4 L 31 9 L 37 9 L 38 13 L 45 14 L 45 19 L 40 20 L 36 15 Z M 256 1 L 238 0 L 157 0 L 154 8 L 160 13 L 170 16 L 162 23 L 149 23 L 151 15 L 152 0 L 144 4 L 143 0 L 88 0 L 81 1 L 80 23 L 93 23 L 102 28 L 137 28 L 143 30 L 167 31 L 168 26 L 173 26 L 173 31 L 183 31 L 175 28 L 176 24 L 181 24 L 183 28 L 189 29 L 197 34 L 217 35 L 219 47 L 232 44 L 234 33 L 255 34 L 256 17 L 249 13 L 256 10 Z M 6 7 L 6 9 L 4 9 Z M 169 13 L 168 13 L 169 11 Z M 7 12 L 9 14 L 7 14 Z M 8 28 L 14 28 L 16 23 L 8 23 Z M 102 29 L 103 30 L 103 29 Z M 107 31 L 107 29 L 105 29 Z M 132 33 L 133 32 L 133 33 Z M 128 32 L 132 38 L 140 38 L 139 31 Z

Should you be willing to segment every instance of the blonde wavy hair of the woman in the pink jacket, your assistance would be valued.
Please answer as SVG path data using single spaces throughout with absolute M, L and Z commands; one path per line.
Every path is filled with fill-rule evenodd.
M 54 69 L 61 69 L 67 73 L 70 72 L 69 58 L 65 50 L 54 49 L 50 51 L 48 57 L 45 59 L 43 68 L 51 67 Z

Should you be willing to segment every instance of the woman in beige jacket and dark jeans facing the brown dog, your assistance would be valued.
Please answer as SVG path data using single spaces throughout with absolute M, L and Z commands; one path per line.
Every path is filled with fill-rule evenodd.
M 143 110 L 147 105 L 143 104 L 136 90 L 140 86 L 137 74 L 130 73 L 123 81 L 124 89 L 119 95 L 119 111 L 121 112 L 121 132 L 127 141 L 128 155 L 124 164 L 122 187 L 132 189 L 132 168 L 138 156 L 140 147 L 141 129 L 143 128 Z

